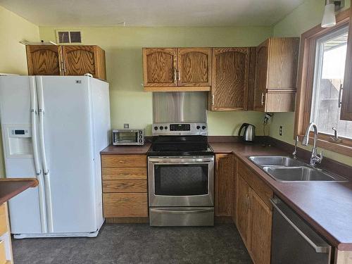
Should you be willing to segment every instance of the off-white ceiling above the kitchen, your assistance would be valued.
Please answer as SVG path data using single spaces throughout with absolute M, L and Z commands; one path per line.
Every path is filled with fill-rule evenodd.
M 40 26 L 273 25 L 305 0 L 0 0 Z M 323 2 L 323 1 L 322 1 Z

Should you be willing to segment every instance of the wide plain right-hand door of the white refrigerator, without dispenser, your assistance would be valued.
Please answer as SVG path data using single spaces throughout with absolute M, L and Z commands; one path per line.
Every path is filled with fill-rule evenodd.
M 96 232 L 89 77 L 37 77 L 54 233 Z M 38 101 L 41 94 L 38 93 Z

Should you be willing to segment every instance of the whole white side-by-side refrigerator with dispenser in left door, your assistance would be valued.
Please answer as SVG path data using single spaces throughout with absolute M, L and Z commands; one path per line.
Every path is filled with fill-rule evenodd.
M 8 203 L 14 237 L 96 237 L 103 225 L 99 152 L 110 142 L 108 83 L 1 76 L 0 122 L 6 177 L 39 181 Z

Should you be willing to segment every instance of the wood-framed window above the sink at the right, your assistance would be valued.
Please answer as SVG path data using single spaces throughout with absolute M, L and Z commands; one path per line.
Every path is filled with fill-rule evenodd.
M 345 76 L 345 68 L 346 73 L 352 70 L 346 64 L 352 56 L 351 36 L 348 39 L 352 28 L 350 12 L 348 9 L 339 13 L 335 27 L 318 25 L 301 35 L 295 113 L 295 136 L 302 139 L 308 124 L 315 122 L 319 132 L 318 146 L 348 156 L 352 156 L 352 118 L 343 115 L 346 115 L 346 106 L 350 105 L 344 101 L 352 98 L 348 89 L 352 77 Z M 344 86 L 346 88 L 341 90 Z M 333 127 L 341 139 L 339 142 L 332 140 Z M 313 132 L 310 136 L 313 137 Z

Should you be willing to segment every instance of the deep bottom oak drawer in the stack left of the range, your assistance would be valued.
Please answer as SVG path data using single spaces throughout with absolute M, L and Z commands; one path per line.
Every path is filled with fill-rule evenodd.
M 103 194 L 104 218 L 143 218 L 148 216 L 146 193 Z

